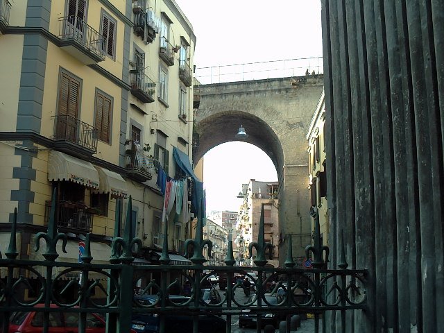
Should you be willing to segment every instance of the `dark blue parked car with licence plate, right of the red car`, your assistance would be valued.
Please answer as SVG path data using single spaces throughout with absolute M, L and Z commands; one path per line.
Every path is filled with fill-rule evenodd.
M 171 302 L 185 303 L 189 297 L 180 295 L 170 295 Z M 137 302 L 144 305 L 154 304 L 157 295 L 137 296 Z M 193 316 L 181 314 L 165 315 L 165 332 L 168 333 L 193 333 Z M 160 332 L 160 316 L 158 314 L 146 312 L 143 314 L 133 314 L 133 330 L 137 333 L 158 333 Z M 225 333 L 226 321 L 223 318 L 212 314 L 200 314 L 198 316 L 199 333 Z

